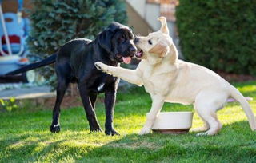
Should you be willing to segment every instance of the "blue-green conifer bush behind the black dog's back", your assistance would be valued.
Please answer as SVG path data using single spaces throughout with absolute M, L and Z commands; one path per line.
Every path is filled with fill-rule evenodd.
M 34 58 L 45 58 L 73 38 L 94 38 L 111 22 L 126 22 L 126 7 L 122 0 L 34 0 L 30 10 L 32 30 L 28 38 Z M 54 66 L 40 70 L 54 83 Z

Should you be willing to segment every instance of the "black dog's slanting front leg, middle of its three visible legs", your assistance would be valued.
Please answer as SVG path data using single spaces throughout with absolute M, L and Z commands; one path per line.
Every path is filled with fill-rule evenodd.
M 94 112 L 93 106 L 91 105 L 90 97 L 89 97 L 88 90 L 86 89 L 86 85 L 80 84 L 80 85 L 78 85 L 78 88 L 79 88 L 80 96 L 82 98 L 82 104 L 86 111 L 86 117 L 87 117 L 87 120 L 89 121 L 90 131 L 91 132 L 92 131 L 97 131 L 97 132 L 102 131 L 102 129 L 98 125 L 97 117 Z

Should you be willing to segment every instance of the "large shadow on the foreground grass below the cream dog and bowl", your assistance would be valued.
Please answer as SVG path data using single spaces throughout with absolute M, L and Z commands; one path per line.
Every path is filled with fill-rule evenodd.
M 100 157 L 106 162 L 255 162 L 255 136 L 247 121 L 226 125 L 213 137 L 196 137 L 195 133 L 130 134 L 90 150 L 79 161 Z

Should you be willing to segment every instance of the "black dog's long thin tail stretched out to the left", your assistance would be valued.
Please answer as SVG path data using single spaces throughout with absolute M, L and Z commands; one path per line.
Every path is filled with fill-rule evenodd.
M 45 58 L 40 62 L 31 63 L 30 65 L 23 66 L 22 68 L 20 68 L 18 70 L 11 71 L 11 72 L 7 73 L 6 76 L 20 74 L 20 73 L 24 73 L 28 70 L 33 70 L 33 69 L 37 69 L 42 66 L 50 65 L 51 63 L 56 62 L 56 58 L 57 58 L 57 54 L 52 54 L 52 55 L 50 55 L 50 57 Z

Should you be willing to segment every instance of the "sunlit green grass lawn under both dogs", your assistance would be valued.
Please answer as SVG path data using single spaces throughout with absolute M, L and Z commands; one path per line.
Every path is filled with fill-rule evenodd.
M 235 85 L 256 99 L 256 81 Z M 0 112 L 0 162 L 256 162 L 256 132 L 250 130 L 238 103 L 218 112 L 223 128 L 213 137 L 195 137 L 195 133 L 138 136 L 150 110 L 150 96 L 136 87 L 119 91 L 117 99 L 114 125 L 121 136 L 114 137 L 90 133 L 82 107 L 62 109 L 62 131 L 56 134 L 49 131 L 49 108 Z M 96 112 L 103 128 L 105 113 L 100 101 Z M 256 101 L 250 105 L 256 114 Z M 177 110 L 193 108 L 166 104 L 162 111 Z M 200 125 L 202 121 L 194 114 L 193 128 Z

